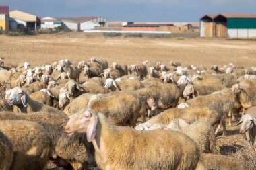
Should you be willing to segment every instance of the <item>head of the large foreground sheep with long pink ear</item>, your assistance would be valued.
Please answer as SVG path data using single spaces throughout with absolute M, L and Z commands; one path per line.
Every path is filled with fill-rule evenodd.
M 96 126 L 98 124 L 98 114 L 90 108 L 80 110 L 69 117 L 65 126 L 65 132 L 71 136 L 75 132 L 86 133 L 88 142 L 92 142 L 96 136 Z

